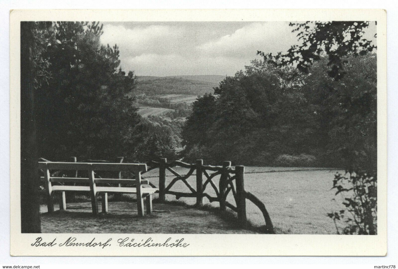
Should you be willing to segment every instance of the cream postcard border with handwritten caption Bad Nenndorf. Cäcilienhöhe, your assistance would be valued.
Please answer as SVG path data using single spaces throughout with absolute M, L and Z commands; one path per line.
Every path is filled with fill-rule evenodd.
M 291 234 L 21 234 L 20 224 L 20 21 L 377 21 L 378 235 Z M 18 256 L 381 256 L 387 251 L 385 10 L 13 10 L 10 12 L 10 254 Z M 272 217 L 272 216 L 271 216 Z M 109 246 L 33 247 L 35 239 L 57 243 L 106 242 Z M 187 247 L 121 247 L 119 238 Z

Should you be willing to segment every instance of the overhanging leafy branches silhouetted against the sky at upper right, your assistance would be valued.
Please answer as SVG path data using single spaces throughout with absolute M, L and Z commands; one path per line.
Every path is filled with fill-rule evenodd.
M 344 57 L 364 55 L 376 49 L 372 41 L 363 38 L 369 21 L 306 21 L 290 23 L 297 33 L 299 45 L 293 45 L 287 53 L 258 51 L 265 60 L 280 65 L 295 65 L 298 70 L 310 72 L 314 62 L 327 55 L 330 66 L 328 74 L 340 80 L 347 73 L 344 68 Z

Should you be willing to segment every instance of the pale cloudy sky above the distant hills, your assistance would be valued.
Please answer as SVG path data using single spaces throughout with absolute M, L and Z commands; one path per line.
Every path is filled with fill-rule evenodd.
M 228 75 L 297 43 L 289 22 L 103 22 L 103 44 L 119 46 L 137 76 Z

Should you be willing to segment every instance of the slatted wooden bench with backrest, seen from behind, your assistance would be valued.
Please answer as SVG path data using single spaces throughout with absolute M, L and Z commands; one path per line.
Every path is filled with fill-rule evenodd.
M 88 191 L 91 197 L 91 207 L 93 214 L 98 214 L 97 196 L 102 195 L 102 212 L 108 211 L 107 193 L 135 193 L 137 194 L 138 215 L 144 216 L 144 198 L 146 213 L 152 212 L 152 194 L 158 189 L 142 185 L 148 185 L 149 181 L 141 179 L 141 173 L 146 172 L 146 164 L 127 164 L 127 163 L 77 163 L 77 162 L 39 162 L 39 169 L 43 170 L 45 176 L 41 177 L 44 181 L 47 207 L 49 212 L 54 211 L 52 196 L 55 192 L 62 194 L 60 199 L 60 210 L 66 210 L 65 191 Z M 87 171 L 88 177 L 52 177 L 50 170 L 74 170 Z M 134 179 L 120 178 L 96 178 L 95 171 L 129 171 L 135 176 Z M 53 183 L 83 183 L 84 185 L 53 185 Z M 102 187 L 97 184 L 129 184 L 134 187 Z M 86 184 L 86 185 L 85 185 Z M 120 186 L 120 185 L 119 185 Z

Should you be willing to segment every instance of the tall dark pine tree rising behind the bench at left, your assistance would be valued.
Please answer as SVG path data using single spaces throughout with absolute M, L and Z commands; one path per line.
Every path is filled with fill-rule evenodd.
M 61 21 L 36 29 L 35 87 L 40 156 L 130 156 L 140 117 L 128 94 L 133 72 L 121 70 L 119 49 L 100 43 L 98 22 Z

